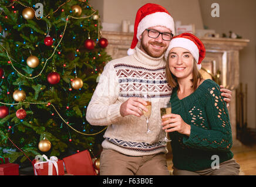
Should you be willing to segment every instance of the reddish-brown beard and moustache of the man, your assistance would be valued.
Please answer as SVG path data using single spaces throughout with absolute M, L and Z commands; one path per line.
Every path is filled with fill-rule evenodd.
M 143 41 L 143 40 L 142 40 Z M 152 49 L 150 48 L 150 45 L 153 44 L 154 46 L 161 46 L 161 47 L 164 47 L 163 49 Z M 144 44 L 142 42 L 142 48 L 144 51 L 146 51 L 146 53 L 151 56 L 151 57 L 154 57 L 154 58 L 157 58 L 157 57 L 160 57 L 163 55 L 163 53 L 166 51 L 167 47 L 166 47 L 166 44 L 165 43 L 159 43 L 157 41 L 149 41 L 148 43 Z

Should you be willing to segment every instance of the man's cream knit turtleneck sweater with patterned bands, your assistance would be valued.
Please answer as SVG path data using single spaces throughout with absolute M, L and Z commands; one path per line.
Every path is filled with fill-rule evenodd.
M 136 53 L 112 60 L 105 65 L 99 83 L 87 107 L 86 119 L 92 125 L 108 126 L 103 148 L 126 155 L 140 156 L 167 153 L 161 129 L 160 108 L 169 102 L 171 88 L 165 77 L 163 56 L 153 58 L 136 47 Z M 151 116 L 121 116 L 120 105 L 131 97 L 149 95 Z

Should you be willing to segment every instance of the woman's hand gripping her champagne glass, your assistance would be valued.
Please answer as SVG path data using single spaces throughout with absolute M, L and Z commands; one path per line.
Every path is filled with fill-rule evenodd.
M 163 130 L 168 133 L 177 131 L 180 134 L 190 136 L 191 126 L 185 123 L 180 115 L 171 113 L 162 116 L 162 119 L 164 118 L 167 118 L 167 120 L 163 120 L 161 123 L 161 125 L 163 126 Z

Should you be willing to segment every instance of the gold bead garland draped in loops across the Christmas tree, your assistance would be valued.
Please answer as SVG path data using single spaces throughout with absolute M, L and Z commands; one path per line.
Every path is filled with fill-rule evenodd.
M 64 2 L 62 5 L 60 5 L 60 6 L 58 7 L 58 9 L 56 9 L 56 10 L 53 11 L 52 13 L 57 12 L 63 5 L 65 5 L 66 3 L 70 2 L 70 1 L 71 1 L 71 0 L 68 0 L 68 1 Z M 80 1 L 80 2 L 86 2 L 86 0 L 85 0 L 85 1 L 79 0 L 79 1 Z M 18 3 L 18 4 L 22 5 L 22 6 L 24 6 L 25 8 L 31 8 L 31 7 L 29 7 L 29 6 L 26 6 L 26 5 L 22 4 L 22 2 L 20 2 L 20 1 L 13 1 L 10 5 L 6 6 L 6 8 L 11 7 L 11 6 L 12 6 L 12 8 L 14 8 L 14 4 L 15 4 L 15 3 Z M 33 10 L 33 12 L 35 12 L 35 10 L 34 10 L 33 8 L 31 8 L 31 9 Z M 95 11 L 94 9 L 92 9 L 92 10 L 93 10 L 93 13 L 90 14 L 89 16 L 85 16 L 85 17 L 75 17 L 75 16 L 68 15 L 68 16 L 66 17 L 65 27 L 64 27 L 63 32 L 62 32 L 62 34 L 61 34 L 61 36 L 60 36 L 60 40 L 59 40 L 58 44 L 56 45 L 56 47 L 53 49 L 53 53 L 52 53 L 52 54 L 50 55 L 50 57 L 47 58 L 46 61 L 43 63 L 43 64 L 44 64 L 44 65 L 43 65 L 43 68 L 42 68 L 42 70 L 41 70 L 37 75 L 35 75 L 35 76 L 30 75 L 30 77 L 28 77 L 28 76 L 22 74 L 19 70 L 17 70 L 17 68 L 15 68 L 14 64 L 12 63 L 12 58 L 9 56 L 8 50 L 6 50 L 6 48 L 5 48 L 2 44 L 0 44 L 0 46 L 4 49 L 6 55 L 8 56 L 8 59 L 9 59 L 8 64 L 11 64 L 11 65 L 12 65 L 12 68 L 14 68 L 14 70 L 17 72 L 17 74 L 21 75 L 22 77 L 24 77 L 24 78 L 26 78 L 26 79 L 35 79 L 35 78 L 41 76 L 43 70 L 45 70 L 45 68 L 46 68 L 47 62 L 54 56 L 54 54 L 56 53 L 57 48 L 60 46 L 60 43 L 62 42 L 63 36 L 65 35 L 66 28 L 67 28 L 67 26 L 68 26 L 68 21 L 69 21 L 69 19 L 70 19 L 70 18 L 73 18 L 73 19 L 87 19 L 87 18 L 90 18 L 91 16 L 93 16 L 93 15 L 95 15 L 95 14 L 97 13 L 97 11 Z M 0 15 L 1 15 L 3 12 L 4 12 L 4 10 L 2 10 L 2 11 L 0 12 Z M 49 15 L 50 15 L 50 14 L 48 14 L 48 15 L 46 15 L 46 16 L 44 16 L 44 17 L 45 17 L 45 18 L 48 18 Z M 38 17 L 35 16 L 35 18 L 38 19 L 38 20 L 40 20 L 40 19 L 42 19 L 43 17 L 39 17 L 39 18 L 38 18 Z M 98 27 L 98 29 L 97 29 L 98 38 L 97 38 L 97 40 L 99 40 L 99 37 L 100 37 L 100 20 L 99 20 L 99 19 L 97 19 L 97 20 L 98 20 L 98 24 L 97 24 L 97 27 Z M 53 64 L 53 68 L 54 68 L 54 64 Z M 94 135 L 96 135 L 96 134 L 102 133 L 102 131 L 104 131 L 104 130 L 107 128 L 107 127 L 105 127 L 103 130 L 100 130 L 99 132 L 97 132 L 97 133 L 92 133 L 92 134 L 83 133 L 83 132 L 81 132 L 81 131 L 79 131 L 79 130 L 76 130 L 75 128 L 73 128 L 72 126 L 70 126 L 69 122 L 67 122 L 67 121 L 60 115 L 60 113 L 59 113 L 59 111 L 56 109 L 55 105 L 53 105 L 52 103 L 49 103 L 49 102 L 25 102 L 25 101 L 20 101 L 19 103 L 4 103 L 4 102 L 0 102 L 0 103 L 1 103 L 2 105 L 11 105 L 11 106 L 14 106 L 14 105 L 22 105 L 22 104 L 52 106 L 52 108 L 53 108 L 53 109 L 55 110 L 55 112 L 58 114 L 58 116 L 60 117 L 60 119 L 62 119 L 62 121 L 63 121 L 67 126 L 69 126 L 70 129 L 76 131 L 76 133 L 83 134 L 83 135 L 86 135 L 86 136 L 94 136 Z

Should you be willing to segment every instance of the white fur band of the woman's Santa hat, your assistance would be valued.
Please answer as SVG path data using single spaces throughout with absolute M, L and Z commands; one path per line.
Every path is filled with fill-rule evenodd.
M 184 37 L 177 37 L 174 38 L 170 41 L 169 47 L 166 50 L 166 53 L 164 54 L 164 58 L 166 58 L 170 53 L 170 50 L 173 49 L 174 47 L 182 47 L 188 51 L 190 51 L 190 53 L 192 54 L 192 56 L 195 58 L 195 60 L 198 63 L 198 59 L 199 59 L 199 50 L 197 45 L 191 41 L 190 39 L 186 39 Z

